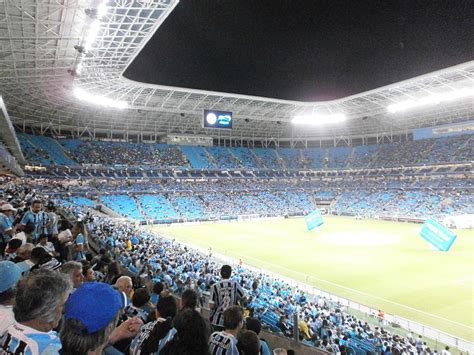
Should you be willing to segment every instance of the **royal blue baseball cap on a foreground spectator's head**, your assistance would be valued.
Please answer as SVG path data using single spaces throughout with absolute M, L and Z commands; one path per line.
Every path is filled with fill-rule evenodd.
M 103 282 L 84 282 L 73 292 L 65 306 L 64 318 L 77 319 L 89 334 L 106 327 L 126 306 L 126 297 Z

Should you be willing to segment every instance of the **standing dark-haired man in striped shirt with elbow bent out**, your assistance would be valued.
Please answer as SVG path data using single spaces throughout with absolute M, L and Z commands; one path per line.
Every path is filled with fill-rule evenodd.
M 224 311 L 230 306 L 237 305 L 246 297 L 246 293 L 237 281 L 230 280 L 232 268 L 224 265 L 221 268 L 222 280 L 211 287 L 209 308 L 211 309 L 210 321 L 214 330 L 222 330 L 224 326 Z

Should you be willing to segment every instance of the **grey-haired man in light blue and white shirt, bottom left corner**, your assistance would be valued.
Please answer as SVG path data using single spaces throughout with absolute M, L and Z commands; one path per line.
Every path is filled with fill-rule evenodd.
M 15 298 L 15 324 L 0 341 L 0 350 L 22 354 L 57 354 L 61 349 L 58 334 L 53 331 L 62 316 L 71 292 L 69 279 L 57 271 L 38 270 L 18 282 Z

